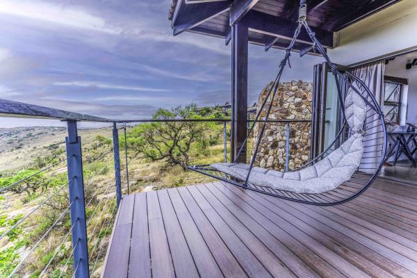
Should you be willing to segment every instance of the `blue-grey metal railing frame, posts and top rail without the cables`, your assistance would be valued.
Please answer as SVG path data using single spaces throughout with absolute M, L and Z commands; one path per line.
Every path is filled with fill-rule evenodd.
M 72 113 L 61 111 L 54 108 L 44 106 L 35 106 L 32 104 L 24 104 L 17 101 L 9 101 L 0 99 L 0 117 L 27 117 L 63 120 L 67 122 L 68 136 L 65 138 L 67 149 L 67 173 L 68 188 L 70 193 L 70 214 L 72 222 L 72 246 L 74 248 L 74 277 L 89 278 L 88 265 L 88 238 L 87 227 L 85 222 L 85 199 L 84 199 L 84 183 L 83 183 L 83 161 L 81 152 L 81 137 L 78 136 L 77 122 L 104 122 L 113 123 L 113 155 L 115 167 L 115 189 L 117 207 L 122 199 L 122 179 L 120 174 L 120 144 L 117 123 L 140 123 L 140 122 L 221 122 L 223 124 L 223 145 L 224 145 L 224 162 L 227 162 L 227 122 L 228 119 L 143 119 L 143 120 L 110 120 L 102 117 L 84 115 L 80 113 Z M 253 120 L 247 120 L 248 123 Z M 275 122 L 286 124 L 286 169 L 289 162 L 289 127 L 292 122 L 311 122 L 309 120 L 268 120 L 267 122 Z M 127 167 L 127 160 L 126 160 Z

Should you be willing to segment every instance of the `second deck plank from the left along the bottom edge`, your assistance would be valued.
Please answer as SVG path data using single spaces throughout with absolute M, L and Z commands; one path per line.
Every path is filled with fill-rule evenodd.
M 135 195 L 128 276 L 152 277 L 146 194 Z

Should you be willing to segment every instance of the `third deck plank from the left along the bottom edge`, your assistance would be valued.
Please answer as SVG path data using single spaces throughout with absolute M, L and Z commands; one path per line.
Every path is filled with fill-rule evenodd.
M 174 265 L 156 191 L 147 193 L 152 277 L 175 277 Z

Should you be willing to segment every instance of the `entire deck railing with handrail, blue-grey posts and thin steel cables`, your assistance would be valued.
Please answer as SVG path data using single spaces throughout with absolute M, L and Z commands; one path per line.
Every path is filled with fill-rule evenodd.
M 10 231 L 12 231 L 13 229 L 15 229 L 16 227 L 18 227 L 20 224 L 22 224 L 22 222 L 24 222 L 24 220 L 26 220 L 27 218 L 29 218 L 31 215 L 33 215 L 36 211 L 39 211 L 39 209 L 46 204 L 49 200 L 51 200 L 53 197 L 55 197 L 56 195 L 58 195 L 58 193 L 61 192 L 61 190 L 63 190 L 65 188 L 65 186 L 72 184 L 72 186 L 69 186 L 69 191 L 70 193 L 68 194 L 68 197 L 73 196 L 74 194 L 76 194 L 76 197 L 74 199 L 71 199 L 70 197 L 70 204 L 69 206 L 62 212 L 60 213 L 60 215 L 58 216 L 58 219 L 56 220 L 56 222 L 54 222 L 51 227 L 49 227 L 49 229 L 47 229 L 46 233 L 40 238 L 40 240 L 38 240 L 38 242 L 35 243 L 35 245 L 33 245 L 31 247 L 31 250 L 28 254 L 26 254 L 26 256 L 24 256 L 24 258 L 22 259 L 22 261 L 20 261 L 17 264 L 17 267 L 13 270 L 11 275 L 14 275 L 15 273 L 17 273 L 17 271 L 19 271 L 19 268 L 22 267 L 22 265 L 24 265 L 24 261 L 26 261 L 26 259 L 28 258 L 28 256 L 35 250 L 35 248 L 38 247 L 38 245 L 40 244 L 40 242 L 42 240 L 44 240 L 44 238 L 49 234 L 49 232 L 54 229 L 54 227 L 56 226 L 56 223 L 58 220 L 60 220 L 61 218 L 63 218 L 63 216 L 65 215 L 65 213 L 67 213 L 68 211 L 70 211 L 70 218 L 72 220 L 72 227 L 70 228 L 69 231 L 67 231 L 67 233 L 65 234 L 65 236 L 63 237 L 62 242 L 60 243 L 60 245 L 58 245 L 58 247 L 56 247 L 56 249 L 54 250 L 54 254 L 51 256 L 51 259 L 49 259 L 47 265 L 45 265 L 44 269 L 42 270 L 41 274 L 45 274 L 47 272 L 47 270 L 50 268 L 50 265 L 52 263 L 52 261 L 54 261 L 54 259 L 56 258 L 56 255 L 58 254 L 60 247 L 63 245 L 63 243 L 65 242 L 65 240 L 67 240 L 67 238 L 69 237 L 69 234 L 72 234 L 72 252 L 70 254 L 70 256 L 68 258 L 66 258 L 66 263 L 65 265 L 67 265 L 71 259 L 73 259 L 74 261 L 74 275 L 76 275 L 75 273 L 87 273 L 88 271 L 91 270 L 91 268 L 89 268 L 89 262 L 95 260 L 94 265 L 92 266 L 92 270 L 94 271 L 97 265 L 97 261 L 99 260 L 99 256 L 102 252 L 102 248 L 104 245 L 99 246 L 99 240 L 97 240 L 97 242 L 95 243 L 94 247 L 92 248 L 92 252 L 90 254 L 88 254 L 88 243 L 91 240 L 92 236 L 95 234 L 96 229 L 98 229 L 100 227 L 99 230 L 99 234 L 101 234 L 101 231 L 103 229 L 108 229 L 108 227 L 110 227 L 110 225 L 112 224 L 112 218 L 108 218 L 108 220 L 104 220 L 101 225 L 98 224 L 99 222 L 97 222 L 94 226 L 94 228 L 92 229 L 92 234 L 90 234 L 90 236 L 87 235 L 86 233 L 86 229 L 88 227 L 88 224 L 90 223 L 90 220 L 92 220 L 92 217 L 94 217 L 95 213 L 99 211 L 99 206 L 103 203 L 105 203 L 106 205 L 110 202 L 110 199 L 106 199 L 106 201 L 104 201 L 104 199 L 101 199 L 99 201 L 99 203 L 97 204 L 97 206 L 95 207 L 92 215 L 90 215 L 90 219 L 88 219 L 88 221 L 85 219 L 85 207 L 90 206 L 90 204 L 92 203 L 93 199 L 95 199 L 95 197 L 97 196 L 97 194 L 99 194 L 99 192 L 101 192 L 101 190 L 104 190 L 105 194 L 108 193 L 109 190 L 112 190 L 113 187 L 112 186 L 106 186 L 105 183 L 97 186 L 97 188 L 95 188 L 95 190 L 93 190 L 94 192 L 92 192 L 92 197 L 90 197 L 89 199 L 85 200 L 84 195 L 81 193 L 85 193 L 86 190 L 88 190 L 92 185 L 95 184 L 95 182 L 93 182 L 93 180 L 95 180 L 96 177 L 99 176 L 99 173 L 96 174 L 94 177 L 92 177 L 90 179 L 90 181 L 88 181 L 86 184 L 83 183 L 83 171 L 85 169 L 88 169 L 88 167 L 90 166 L 91 163 L 94 163 L 95 161 L 99 161 L 103 158 L 105 158 L 108 154 L 111 154 L 111 152 L 113 151 L 113 154 L 115 155 L 115 173 L 119 172 L 119 182 L 120 184 L 117 185 L 117 177 L 115 179 L 115 188 L 116 188 L 116 196 L 117 194 L 119 194 L 120 192 L 120 196 L 122 194 L 122 191 L 125 189 L 122 186 L 121 183 L 121 178 L 120 178 L 120 166 L 117 169 L 116 167 L 116 159 L 119 158 L 119 153 L 118 153 L 118 141 L 117 144 L 115 145 L 115 139 L 117 138 L 118 140 L 118 133 L 117 133 L 117 123 L 119 124 L 124 124 L 124 127 L 126 127 L 126 124 L 131 123 L 132 125 L 134 123 L 146 123 L 146 122 L 161 122 L 161 123 L 168 123 L 168 122 L 215 122 L 217 124 L 222 123 L 223 126 L 223 145 L 224 145 L 224 161 L 227 162 L 227 123 L 232 122 L 231 119 L 227 119 L 227 118 L 214 118 L 214 119 L 208 119 L 208 118 L 200 118 L 200 119 L 137 119 L 137 120 L 111 120 L 111 119 L 107 119 L 104 117 L 95 117 L 92 115 L 85 115 L 85 114 L 81 114 L 81 113 L 73 113 L 73 112 L 69 112 L 69 111 L 63 111 L 63 110 L 58 110 L 58 109 L 54 109 L 54 108 L 48 108 L 48 107 L 44 107 L 44 106 L 36 106 L 36 105 L 32 105 L 32 104 L 24 104 L 22 102 L 17 102 L 17 101 L 10 101 L 10 100 L 6 100 L 6 99 L 0 99 L 0 117 L 24 117 L 24 118 L 41 118 L 41 119 L 50 119 L 50 120 L 63 120 L 63 121 L 67 121 L 68 124 L 68 137 L 66 140 L 66 149 L 67 149 L 67 157 L 66 158 L 62 158 L 59 161 L 57 161 L 56 163 L 53 163 L 51 165 L 48 165 L 47 167 L 44 167 L 41 170 L 38 170 L 37 172 L 35 172 L 34 174 L 28 175 L 28 177 L 24 177 L 22 179 L 20 179 L 19 181 L 15 181 L 15 183 L 12 183 L 10 185 L 8 185 L 6 188 L 0 188 L 0 193 L 3 193 L 5 190 L 7 190 L 10 187 L 13 187 L 15 185 L 17 185 L 18 183 L 21 183 L 23 181 L 26 181 L 28 179 L 30 179 L 31 177 L 34 177 L 37 174 L 40 174 L 42 172 L 45 172 L 47 170 L 50 170 L 51 168 L 53 168 L 54 166 L 58 165 L 58 163 L 63 163 L 64 161 L 67 161 L 67 172 L 70 172 L 70 170 L 72 171 L 71 173 L 69 173 L 69 175 L 71 174 L 71 177 L 68 179 L 67 183 L 65 183 L 64 185 L 60 186 L 60 188 L 58 190 L 56 190 L 54 193 L 52 193 L 47 199 L 44 199 L 43 202 L 41 202 L 36 208 L 34 208 L 32 211 L 30 211 L 28 213 L 28 215 L 25 215 L 24 218 L 22 218 L 21 220 L 17 221 L 15 224 L 13 224 L 13 227 L 10 227 L 8 229 L 8 231 L 4 232 L 3 234 L 0 235 L 0 239 L 3 238 L 4 236 L 6 236 Z M 77 134 L 77 127 L 76 127 L 76 122 L 78 121 L 83 121 L 83 122 L 102 122 L 104 124 L 113 124 L 113 147 L 105 152 L 101 152 L 98 154 L 98 157 L 94 158 L 93 156 L 85 156 L 84 159 L 81 159 L 81 152 L 82 152 L 82 146 L 81 146 L 81 140 L 78 140 L 77 138 L 79 138 L 78 134 Z M 254 120 L 246 120 L 247 124 L 253 123 Z M 268 123 L 278 123 L 278 124 L 286 124 L 286 132 L 289 135 L 289 125 L 291 123 L 309 123 L 311 122 L 311 120 L 267 120 L 265 122 Z M 126 131 L 125 131 L 126 132 Z M 125 142 L 126 142 L 126 135 L 125 135 Z M 288 136 L 286 138 L 286 145 L 288 145 Z M 104 145 L 104 143 L 99 144 L 95 147 L 102 147 Z M 127 145 L 125 145 L 127 147 Z M 117 151 L 117 152 L 116 152 Z M 70 152 L 70 153 L 69 153 Z M 288 152 L 288 148 L 287 148 L 287 152 Z M 127 155 L 127 150 L 125 150 L 125 154 Z M 91 159 L 91 161 L 90 161 Z M 85 163 L 83 163 L 83 161 L 85 161 Z M 288 161 L 288 157 L 286 158 L 286 161 Z M 127 164 L 128 162 L 126 161 L 126 177 L 129 177 L 129 172 L 127 169 Z M 288 163 L 286 163 L 286 167 L 288 167 Z M 116 175 L 117 176 L 117 175 Z M 77 180 L 78 179 L 78 180 Z M 110 183 L 108 183 L 108 185 L 111 185 L 113 181 L 110 181 Z M 126 184 L 127 188 L 129 188 L 129 183 Z M 107 187 L 107 188 L 106 188 Z M 76 191 L 75 191 L 76 190 Z M 128 189 L 129 190 L 129 189 Z M 77 197 L 78 196 L 78 197 Z M 76 202 L 76 200 L 79 200 L 79 202 Z M 81 202 L 81 200 L 83 202 Z M 110 204 L 112 204 L 110 202 Z M 76 209 L 75 209 L 76 207 Z M 108 208 L 106 208 L 107 213 L 109 211 L 111 211 L 111 215 L 113 215 L 113 212 L 115 210 L 117 210 L 118 207 L 118 203 L 115 203 L 113 205 L 108 206 Z M 104 212 L 104 206 L 101 207 L 101 209 Z M 74 213 L 76 211 L 84 211 L 84 213 Z M 80 232 L 81 229 L 85 229 L 85 233 L 84 232 Z M 78 238 L 78 240 L 76 240 L 76 238 Z M 82 239 L 82 240 L 81 240 Z M 75 252 L 76 250 L 76 252 Z M 93 256 L 91 256 L 92 254 L 96 254 L 96 258 L 93 258 Z M 77 263 L 78 262 L 78 263 Z M 85 263 L 85 265 L 84 265 Z M 87 268 L 87 270 L 85 270 L 85 268 Z M 60 275 L 63 275 L 63 273 L 65 268 L 63 268 L 60 273 Z

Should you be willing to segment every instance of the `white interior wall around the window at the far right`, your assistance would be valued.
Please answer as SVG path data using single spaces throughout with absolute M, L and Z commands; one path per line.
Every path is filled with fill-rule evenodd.
M 398 56 L 395 60 L 391 60 L 385 67 L 385 75 L 401 77 L 408 79 L 409 90 L 407 99 L 407 122 L 417 123 L 417 66 L 411 67 L 411 70 L 406 70 L 405 65 L 414 58 L 417 58 L 417 51 Z

